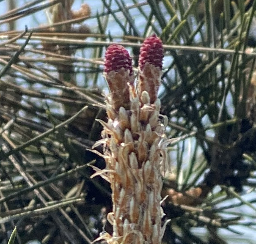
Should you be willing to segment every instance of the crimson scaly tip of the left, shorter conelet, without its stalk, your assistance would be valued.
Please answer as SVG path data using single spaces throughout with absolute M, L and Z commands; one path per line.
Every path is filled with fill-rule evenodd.
M 133 74 L 129 52 L 121 45 L 111 44 L 105 53 L 104 72 L 119 71 L 122 67 L 129 69 L 130 75 Z

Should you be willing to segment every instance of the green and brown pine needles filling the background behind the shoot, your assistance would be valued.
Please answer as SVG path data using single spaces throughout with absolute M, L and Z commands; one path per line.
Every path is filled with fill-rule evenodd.
M 153 33 L 165 49 L 159 98 L 172 168 L 163 175 L 163 243 L 248 243 L 256 1 L 18 2 L 0 0 L 0 243 L 15 226 L 19 244 L 88 244 L 103 226 L 112 232 L 109 184 L 90 178 L 105 167 L 90 151 L 101 138 L 96 119 L 107 118 L 105 49 L 123 45 L 136 72 Z

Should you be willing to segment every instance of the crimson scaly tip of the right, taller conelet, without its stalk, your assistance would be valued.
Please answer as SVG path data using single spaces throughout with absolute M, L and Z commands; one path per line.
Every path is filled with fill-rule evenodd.
M 162 59 L 164 57 L 164 49 L 162 41 L 154 34 L 143 41 L 140 47 L 139 67 L 143 70 L 146 62 L 153 64 L 155 67 L 162 69 Z

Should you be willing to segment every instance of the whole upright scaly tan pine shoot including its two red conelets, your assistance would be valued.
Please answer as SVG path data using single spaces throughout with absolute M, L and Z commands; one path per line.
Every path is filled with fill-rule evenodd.
M 99 238 L 108 244 L 159 244 L 166 226 L 162 226 L 160 192 L 169 160 L 166 124 L 160 120 L 164 116 L 157 99 L 162 60 L 160 55 L 157 61 L 151 57 L 155 47 L 162 50 L 160 39 L 148 38 L 140 55 L 144 66 L 140 81 L 156 83 L 153 92 L 151 83 L 135 89 L 132 59 L 124 47 L 111 45 L 105 55 L 104 74 L 110 88 L 108 122 L 98 120 L 104 128 L 103 139 L 94 147 L 104 145 L 106 169 L 94 167 L 94 175 L 102 175 L 112 189 L 113 212 L 107 219 L 113 225 L 113 236 L 105 233 Z

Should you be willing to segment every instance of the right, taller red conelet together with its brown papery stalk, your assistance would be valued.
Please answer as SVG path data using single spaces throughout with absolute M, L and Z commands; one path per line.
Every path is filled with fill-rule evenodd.
M 146 38 L 140 47 L 138 93 L 147 91 L 151 103 L 156 101 L 161 84 L 163 54 L 162 41 L 155 34 Z

